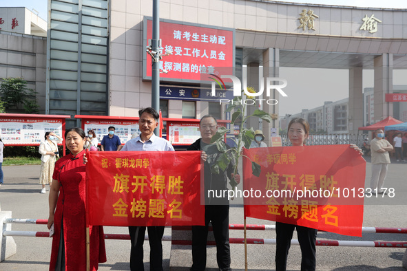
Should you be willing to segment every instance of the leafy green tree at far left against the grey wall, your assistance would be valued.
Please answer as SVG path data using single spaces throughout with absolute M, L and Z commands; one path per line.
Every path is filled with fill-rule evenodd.
M 3 78 L 3 82 L 0 84 L 0 94 L 3 96 L 6 111 L 17 109 L 24 113 L 39 113 L 36 93 L 27 87 L 27 81 L 23 78 Z

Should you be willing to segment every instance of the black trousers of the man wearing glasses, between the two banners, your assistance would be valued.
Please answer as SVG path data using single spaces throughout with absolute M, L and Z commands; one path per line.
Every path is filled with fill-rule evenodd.
M 207 265 L 209 221 L 212 221 L 219 270 L 231 270 L 229 246 L 229 205 L 205 206 L 205 226 L 192 226 L 191 271 L 203 271 Z

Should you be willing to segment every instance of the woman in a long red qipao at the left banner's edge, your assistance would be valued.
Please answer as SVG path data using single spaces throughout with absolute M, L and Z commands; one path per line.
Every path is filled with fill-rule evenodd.
M 85 132 L 74 127 L 65 132 L 70 154 L 55 164 L 50 190 L 48 228 L 54 224 L 50 271 L 86 270 L 85 165 L 83 144 Z M 90 228 L 90 270 L 106 261 L 102 226 Z

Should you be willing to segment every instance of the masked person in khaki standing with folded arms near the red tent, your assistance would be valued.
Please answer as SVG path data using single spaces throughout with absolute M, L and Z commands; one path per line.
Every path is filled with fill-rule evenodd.
M 376 136 L 371 141 L 372 156 L 372 178 L 371 193 L 382 194 L 382 187 L 386 179 L 388 164 L 390 164 L 389 152 L 393 151 L 393 146 L 384 138 L 384 131 L 377 129 Z M 375 191 L 377 189 L 377 191 Z

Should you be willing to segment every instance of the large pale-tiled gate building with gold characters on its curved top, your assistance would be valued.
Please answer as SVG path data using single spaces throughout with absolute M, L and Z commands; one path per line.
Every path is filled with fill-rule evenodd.
M 151 105 L 152 83 L 143 73 L 149 59 L 145 21 L 152 17 L 152 1 L 49 0 L 49 6 L 46 113 L 137 116 L 138 109 Z M 233 65 L 240 71 L 236 76 L 242 78 L 243 86 L 267 86 L 267 78 L 279 77 L 280 67 L 348 69 L 348 106 L 324 108 L 330 111 L 325 116 L 336 114 L 332 124 L 321 113 L 312 113 L 315 129 L 321 122 L 342 131 L 345 126 L 353 132 L 363 126 L 363 69 L 375 70 L 373 119 L 381 120 L 393 112 L 393 102 L 386 102 L 384 96 L 393 93 L 393 69 L 407 66 L 407 31 L 403 27 L 407 10 L 257 0 L 162 0 L 159 14 L 162 25 L 233 31 L 233 40 L 228 42 L 233 43 Z M 207 39 L 198 30 L 192 34 L 198 34 L 200 41 Z M 178 45 L 171 44 L 165 32 L 161 37 L 163 52 L 164 45 L 169 45 L 176 54 Z M 178 54 L 191 54 L 193 48 L 188 48 L 182 47 L 184 51 Z M 217 59 L 222 57 L 220 52 L 216 52 Z M 184 93 L 181 89 L 204 91 L 198 80 L 169 79 L 174 69 L 185 63 L 169 65 L 165 57 L 161 62 L 163 70 L 172 69 L 169 77 L 163 74 L 160 80 L 164 93 L 170 88 L 178 93 Z M 244 74 L 243 67 L 247 67 Z M 192 70 L 197 71 L 189 69 L 185 76 L 191 76 Z M 258 83 L 259 77 L 263 84 Z M 231 82 L 227 83 L 230 88 Z M 266 93 L 260 97 L 289 99 L 277 89 L 271 89 L 269 96 Z M 211 100 L 191 100 L 181 94 L 160 94 L 160 98 L 160 107 L 169 118 L 200 118 L 205 113 L 226 118 L 225 107 Z M 269 113 L 278 113 L 278 104 L 262 106 Z M 345 111 L 346 120 L 342 116 Z M 258 125 L 253 122 L 251 126 L 256 129 Z M 267 138 L 278 125 L 278 121 L 263 123 Z

